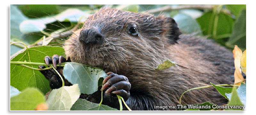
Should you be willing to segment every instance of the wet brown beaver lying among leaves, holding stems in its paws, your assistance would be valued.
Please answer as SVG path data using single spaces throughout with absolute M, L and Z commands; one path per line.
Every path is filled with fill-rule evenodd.
M 94 94 L 81 94 L 80 98 L 99 103 L 99 92 L 104 90 L 102 104 L 117 109 L 116 94 L 132 110 L 163 110 L 155 106 L 176 106 L 165 110 L 177 110 L 183 92 L 202 86 L 195 82 L 231 83 L 234 73 L 231 51 L 212 40 L 181 34 L 175 20 L 163 15 L 101 8 L 65 44 L 67 59 L 47 56 L 45 63 L 52 63 L 60 73 L 63 68 L 56 65 L 68 61 L 102 68 L 108 75 L 105 84 Z M 156 71 L 156 66 L 167 59 L 183 67 Z M 41 73 L 52 89 L 62 86 L 53 70 Z M 66 81 L 65 85 L 72 84 Z M 227 101 L 216 89 L 203 88 L 185 93 L 181 104 L 221 105 Z

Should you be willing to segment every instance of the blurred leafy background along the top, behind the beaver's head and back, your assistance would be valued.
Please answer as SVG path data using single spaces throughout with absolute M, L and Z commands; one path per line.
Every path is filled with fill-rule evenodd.
M 104 6 L 173 17 L 183 34 L 206 36 L 229 49 L 234 45 L 246 49 L 246 5 L 11 5 L 10 42 L 42 45 L 42 36 L 53 36 L 54 30 L 64 32 L 61 28 L 75 27 Z M 172 9 L 161 10 L 168 7 Z M 157 9 L 160 11 L 154 12 Z M 49 45 L 61 45 L 61 42 L 54 39 Z M 23 48 L 20 44 L 11 45 L 10 55 Z

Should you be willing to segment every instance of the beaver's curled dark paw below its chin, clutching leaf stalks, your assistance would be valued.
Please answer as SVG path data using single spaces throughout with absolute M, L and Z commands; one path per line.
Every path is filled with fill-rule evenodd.
M 124 100 L 127 100 L 130 96 L 131 83 L 128 81 L 127 77 L 123 75 L 118 75 L 112 72 L 107 73 L 107 77 L 103 80 L 101 91 L 108 88 L 105 94 L 117 94 L 122 96 Z

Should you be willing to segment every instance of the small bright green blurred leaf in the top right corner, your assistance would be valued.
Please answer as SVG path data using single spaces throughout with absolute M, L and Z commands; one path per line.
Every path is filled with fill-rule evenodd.
M 233 13 L 236 17 L 239 16 L 240 12 L 243 9 L 246 9 L 246 4 L 228 4 L 225 5 L 230 11 L 231 13 Z

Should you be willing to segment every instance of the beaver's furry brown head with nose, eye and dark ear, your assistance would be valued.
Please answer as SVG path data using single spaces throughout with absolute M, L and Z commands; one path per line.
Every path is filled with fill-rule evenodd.
M 154 70 L 163 49 L 181 34 L 172 18 L 109 8 L 91 15 L 75 33 L 64 46 L 71 61 L 113 72 L 129 66 Z

